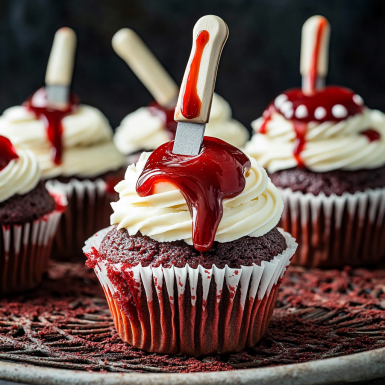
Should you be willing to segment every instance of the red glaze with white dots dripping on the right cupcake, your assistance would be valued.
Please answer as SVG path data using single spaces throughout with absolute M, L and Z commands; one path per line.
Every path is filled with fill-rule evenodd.
M 266 134 L 267 124 L 274 113 L 283 115 L 293 123 L 296 132 L 294 157 L 299 166 L 303 166 L 301 152 L 306 146 L 307 124 L 309 122 L 340 122 L 356 114 L 362 113 L 363 106 L 354 100 L 355 94 L 348 88 L 329 86 L 315 89 L 312 94 L 306 94 L 302 89 L 295 88 L 282 93 L 272 102 L 263 113 L 263 123 L 259 129 L 261 134 Z M 333 107 L 338 106 L 336 113 Z M 319 108 L 323 114 L 319 114 Z M 318 109 L 318 110 L 317 110 Z M 316 112 L 317 111 L 317 112 Z

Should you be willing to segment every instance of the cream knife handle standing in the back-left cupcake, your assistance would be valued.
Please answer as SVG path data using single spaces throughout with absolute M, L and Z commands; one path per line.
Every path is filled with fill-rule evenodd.
M 54 37 L 45 74 L 46 85 L 69 86 L 72 81 L 76 34 L 71 28 L 60 28 Z

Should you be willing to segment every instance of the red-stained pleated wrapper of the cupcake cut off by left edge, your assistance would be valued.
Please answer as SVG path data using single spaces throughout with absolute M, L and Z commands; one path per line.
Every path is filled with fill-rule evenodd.
M 33 222 L 0 226 L 0 296 L 31 289 L 47 270 L 66 197 L 50 190 L 58 208 Z

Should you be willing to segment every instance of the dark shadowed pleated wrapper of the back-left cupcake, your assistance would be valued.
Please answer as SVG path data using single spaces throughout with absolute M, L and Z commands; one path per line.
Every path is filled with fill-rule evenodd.
M 68 199 L 68 208 L 55 237 L 53 258 L 84 259 L 84 240 L 110 224 L 110 203 L 118 199 L 118 194 L 108 192 L 101 178 L 95 181 L 71 179 L 68 183 L 49 180 L 46 185 L 62 191 Z

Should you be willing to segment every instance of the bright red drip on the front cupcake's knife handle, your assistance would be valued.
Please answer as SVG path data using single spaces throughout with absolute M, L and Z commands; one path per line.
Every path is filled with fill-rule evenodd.
M 190 65 L 181 108 L 182 115 L 187 119 L 196 118 L 201 111 L 202 102 L 198 96 L 197 83 L 203 50 L 209 39 L 210 34 L 206 30 L 201 31 L 196 39 L 194 58 Z

